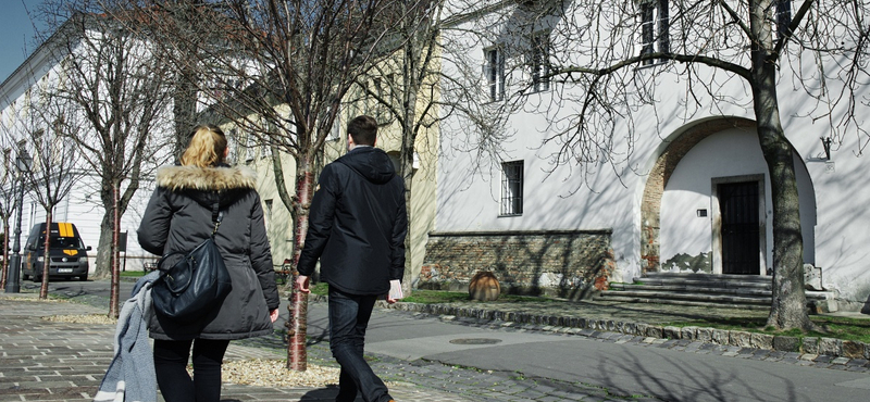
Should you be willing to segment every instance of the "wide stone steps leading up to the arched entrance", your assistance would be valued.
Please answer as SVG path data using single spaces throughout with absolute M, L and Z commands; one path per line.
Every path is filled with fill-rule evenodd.
M 771 277 L 694 273 L 648 273 L 633 284 L 610 284 L 595 300 L 770 310 Z M 835 312 L 834 294 L 807 290 L 812 312 Z

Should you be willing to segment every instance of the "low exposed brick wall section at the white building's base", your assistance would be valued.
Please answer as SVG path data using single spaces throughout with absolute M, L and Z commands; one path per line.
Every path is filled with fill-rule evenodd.
M 612 230 L 432 233 L 418 287 L 468 290 L 480 271 L 502 292 L 582 299 L 614 269 Z

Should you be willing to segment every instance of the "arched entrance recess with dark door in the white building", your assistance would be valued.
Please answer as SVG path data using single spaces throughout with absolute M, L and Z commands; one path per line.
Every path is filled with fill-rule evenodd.
M 815 260 L 816 199 L 795 153 L 805 261 Z M 765 275 L 772 250 L 767 165 L 754 122 L 716 118 L 659 149 L 642 203 L 643 271 Z

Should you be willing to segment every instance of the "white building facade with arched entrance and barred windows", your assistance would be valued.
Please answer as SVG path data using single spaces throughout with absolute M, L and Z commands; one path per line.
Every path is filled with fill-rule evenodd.
M 463 77 L 483 112 L 444 116 L 437 215 L 423 282 L 468 286 L 476 272 L 492 271 L 508 289 L 579 298 L 648 272 L 772 275 L 770 173 L 746 81 L 709 67 L 689 77 L 674 62 L 634 63 L 625 67 L 630 79 L 621 90 L 651 98 L 609 115 L 610 126 L 594 126 L 609 131 L 572 131 L 588 81 L 548 76 L 548 63 L 540 61 L 584 65 L 572 60 L 571 50 L 593 48 L 592 38 L 569 25 L 583 25 L 592 14 L 570 5 L 539 12 L 535 4 L 542 3 L 455 4 L 459 12 L 444 29 L 445 74 Z M 670 43 L 647 40 L 648 18 L 661 37 L 667 1 L 626 7 L 636 10 L 623 21 L 636 24 L 636 37 L 611 49 L 595 43 L 601 46 L 596 52 L 624 47 L 639 54 L 647 46 L 667 51 L 682 40 L 682 34 L 672 34 Z M 845 104 L 820 112 L 808 93 L 818 95 L 821 84 L 799 70 L 813 65 L 811 59 L 784 55 L 778 77 L 780 118 L 794 152 L 804 260 L 821 267 L 840 309 L 870 309 L 870 212 L 860 206 L 870 202 L 870 177 L 863 174 L 870 161 L 860 152 L 867 137 L 854 125 L 838 126 L 849 113 L 859 115 Z M 833 67 L 833 60 L 826 62 Z M 844 88 L 830 77 L 824 85 L 833 93 Z M 855 90 L 857 99 L 870 95 L 867 87 Z M 444 91 L 450 97 L 450 88 Z M 486 116 L 501 121 L 482 124 Z

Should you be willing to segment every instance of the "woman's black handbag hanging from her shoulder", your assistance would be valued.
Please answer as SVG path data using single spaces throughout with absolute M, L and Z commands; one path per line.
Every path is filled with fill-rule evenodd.
M 151 299 L 159 314 L 177 321 L 197 318 L 220 305 L 229 294 L 233 288 L 229 272 L 214 243 L 223 213 L 216 215 L 214 230 L 208 239 L 189 252 L 169 253 L 158 262 L 161 275 L 154 280 Z M 177 254 L 184 257 L 164 268 L 163 263 Z

